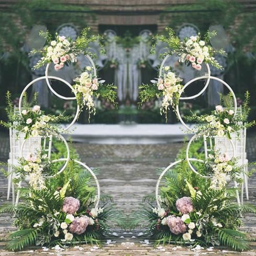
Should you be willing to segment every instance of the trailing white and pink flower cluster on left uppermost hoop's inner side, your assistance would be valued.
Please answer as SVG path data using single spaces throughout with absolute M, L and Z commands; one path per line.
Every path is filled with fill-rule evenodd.
M 98 80 L 97 77 L 92 77 L 92 68 L 90 66 L 86 67 L 86 71 L 83 72 L 79 77 L 75 78 L 76 84 L 73 86 L 76 95 L 82 96 L 82 106 L 87 106 L 89 112 L 95 112 L 94 99 L 92 97 L 93 91 L 98 89 L 99 84 L 103 84 L 104 80 Z

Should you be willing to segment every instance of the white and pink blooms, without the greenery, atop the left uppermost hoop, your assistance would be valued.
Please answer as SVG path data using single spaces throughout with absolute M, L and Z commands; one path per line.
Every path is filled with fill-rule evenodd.
M 51 41 L 47 48 L 46 60 L 52 61 L 55 70 L 61 69 L 68 61 L 76 62 L 76 55 L 73 53 L 72 42 L 65 36 L 57 36 L 56 40 Z

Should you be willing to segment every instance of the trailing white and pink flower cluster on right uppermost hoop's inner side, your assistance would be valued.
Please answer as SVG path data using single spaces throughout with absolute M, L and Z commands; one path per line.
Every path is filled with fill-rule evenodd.
M 173 97 L 177 93 L 179 95 L 181 94 L 181 81 L 181 78 L 176 77 L 176 75 L 170 71 L 169 66 L 164 67 L 163 77 L 159 77 L 158 80 L 151 81 L 152 83 L 157 85 L 158 90 L 163 91 L 162 94 L 164 95 L 164 98 L 162 99 L 160 112 L 167 113 L 167 110 L 170 105 L 174 107 Z

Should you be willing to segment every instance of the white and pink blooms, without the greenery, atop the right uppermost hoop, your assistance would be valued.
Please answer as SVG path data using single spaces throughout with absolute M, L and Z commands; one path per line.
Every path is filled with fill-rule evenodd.
M 183 53 L 180 54 L 180 61 L 188 61 L 197 70 L 201 70 L 203 61 L 214 61 L 214 57 L 209 54 L 205 41 L 200 40 L 199 36 L 191 36 L 189 40 L 181 45 Z

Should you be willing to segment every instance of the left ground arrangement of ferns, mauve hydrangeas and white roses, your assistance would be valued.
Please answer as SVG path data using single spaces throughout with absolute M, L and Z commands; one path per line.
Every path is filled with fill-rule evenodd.
M 58 152 L 64 150 L 59 144 L 54 145 L 58 145 Z M 76 155 L 71 147 L 71 158 Z M 59 153 L 53 156 L 60 157 Z M 54 172 L 61 165 L 61 162 L 52 164 L 50 171 Z M 69 161 L 61 174 L 43 182 L 40 190 L 31 184 L 22 188 L 18 205 L 6 204 L 0 208 L 1 213 L 16 216 L 14 225 L 18 230 L 8 237 L 8 250 L 19 251 L 29 246 L 65 247 L 77 243 L 100 245 L 111 232 L 109 223 L 122 225 L 122 215 L 110 203 L 111 197 L 101 195 L 101 207 L 95 208 L 97 195 L 95 187 L 91 186 L 91 175 L 76 162 Z

